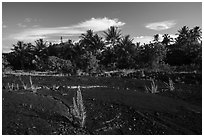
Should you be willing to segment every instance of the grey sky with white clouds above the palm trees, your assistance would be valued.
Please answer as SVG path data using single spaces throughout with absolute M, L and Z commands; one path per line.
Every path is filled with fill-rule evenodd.
M 3 2 L 2 51 L 19 40 L 77 41 L 88 29 L 103 37 L 110 26 L 149 43 L 155 34 L 175 38 L 184 25 L 202 28 L 201 2 Z

